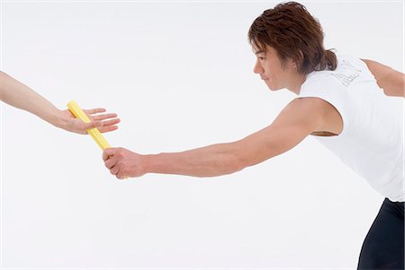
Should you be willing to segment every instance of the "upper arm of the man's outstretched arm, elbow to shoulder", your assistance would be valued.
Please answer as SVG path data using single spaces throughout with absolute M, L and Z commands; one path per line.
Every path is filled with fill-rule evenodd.
M 236 142 L 241 167 L 266 161 L 300 144 L 322 125 L 322 102 L 316 98 L 295 99 L 270 126 Z

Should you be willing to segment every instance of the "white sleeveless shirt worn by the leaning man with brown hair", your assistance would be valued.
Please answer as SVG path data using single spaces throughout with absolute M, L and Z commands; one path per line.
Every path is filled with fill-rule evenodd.
M 338 56 L 334 71 L 308 74 L 299 97 L 317 97 L 338 110 L 341 134 L 315 138 L 380 194 L 403 202 L 403 99 L 387 97 L 367 65 L 348 56 Z

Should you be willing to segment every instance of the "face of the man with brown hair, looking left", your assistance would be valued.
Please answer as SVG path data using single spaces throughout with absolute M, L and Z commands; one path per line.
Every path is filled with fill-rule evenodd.
M 266 53 L 253 48 L 257 56 L 257 61 L 253 72 L 259 74 L 265 81 L 267 87 L 272 91 L 287 88 L 287 83 L 292 75 L 292 60 L 287 59 L 285 65 L 282 65 L 275 48 L 266 47 Z

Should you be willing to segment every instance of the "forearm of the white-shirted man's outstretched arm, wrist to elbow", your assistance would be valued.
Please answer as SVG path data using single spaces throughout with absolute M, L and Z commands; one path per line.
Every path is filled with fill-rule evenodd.
M 185 152 L 144 156 L 146 173 L 215 177 L 242 170 L 236 144 L 212 144 Z

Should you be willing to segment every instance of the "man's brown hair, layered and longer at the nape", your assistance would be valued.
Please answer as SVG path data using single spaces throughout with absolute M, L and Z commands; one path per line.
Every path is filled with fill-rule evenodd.
M 266 52 L 266 45 L 275 48 L 283 64 L 287 57 L 292 58 L 300 74 L 335 70 L 338 65 L 335 53 L 323 48 L 320 22 L 296 2 L 266 10 L 252 23 L 247 36 L 250 44 L 262 51 Z

